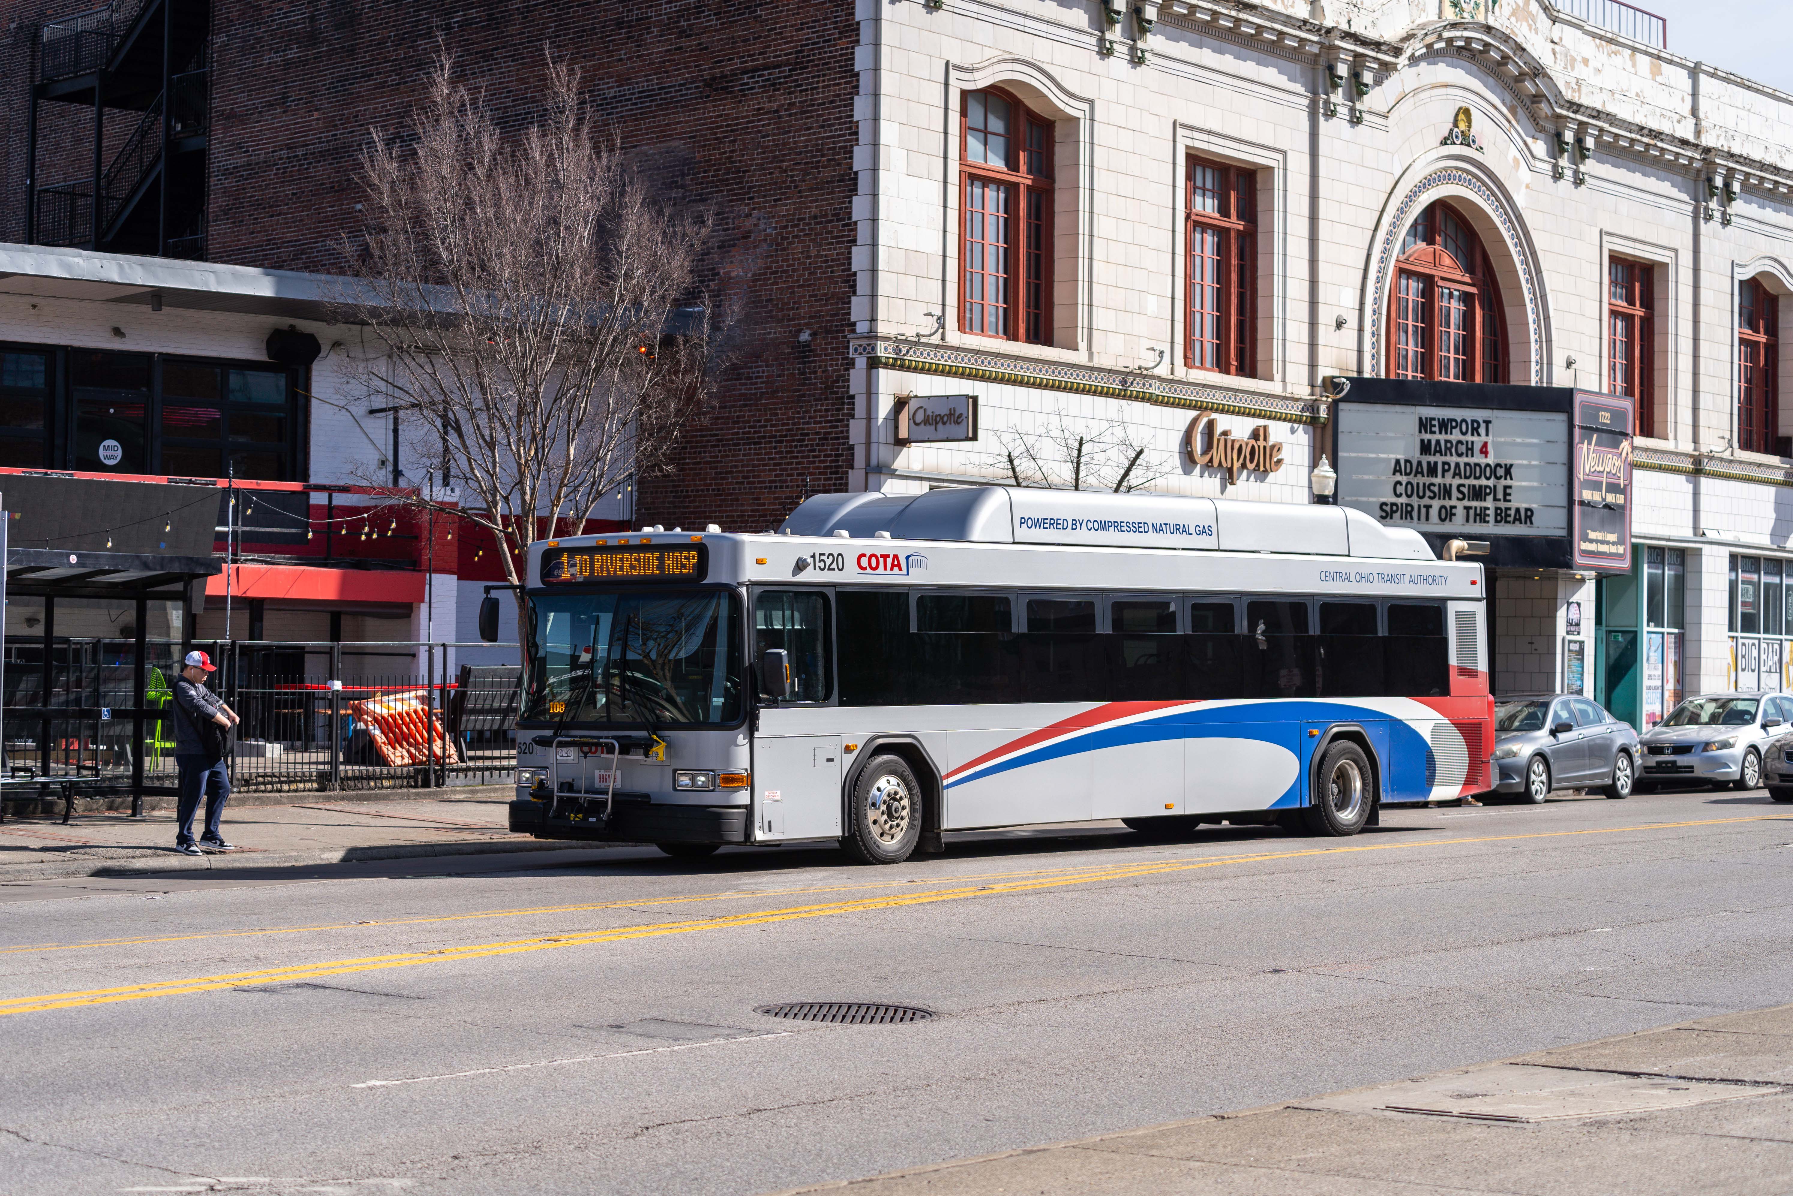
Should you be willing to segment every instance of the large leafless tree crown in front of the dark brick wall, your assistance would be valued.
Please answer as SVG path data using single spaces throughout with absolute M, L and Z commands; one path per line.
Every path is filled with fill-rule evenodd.
M 439 443 L 437 479 L 470 498 L 455 513 L 493 533 L 516 583 L 538 518 L 577 533 L 667 472 L 710 403 L 728 323 L 699 285 L 710 221 L 649 194 L 552 54 L 520 133 L 443 54 L 411 127 L 373 133 L 360 181 L 339 307 L 378 341 L 364 382 L 412 443 Z

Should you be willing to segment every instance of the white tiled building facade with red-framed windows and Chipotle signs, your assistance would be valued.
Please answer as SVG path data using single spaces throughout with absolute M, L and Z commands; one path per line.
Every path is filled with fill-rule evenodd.
M 1420 360 L 1397 360 L 1397 262 L 1443 201 L 1468 230 L 1447 237 L 1483 251 L 1460 267 L 1485 296 L 1470 339 L 1499 330 L 1463 350 L 1470 380 L 1630 389 L 1641 409 L 1633 574 L 1501 570 L 1497 692 L 1562 689 L 1574 653 L 1637 721 L 1676 694 L 1789 689 L 1793 97 L 1585 0 L 859 0 L 859 30 L 855 486 L 1038 482 L 1017 448 L 1067 484 L 1081 436 L 1106 454 L 1085 484 L 1137 457 L 1126 484 L 1309 502 L 1325 380 Z M 1203 210 L 1248 217 L 1237 235 L 1191 217 L 1198 167 L 1239 181 Z M 1230 238 L 1198 260 L 1207 228 Z M 1642 290 L 1621 296 L 1615 265 Z M 1246 290 L 1198 299 L 1210 271 Z M 1433 323 L 1467 319 L 1443 294 Z M 1452 375 L 1440 355 L 1420 377 Z M 898 443 L 904 403 L 963 393 L 975 441 Z M 1192 461 L 1201 411 L 1237 438 L 1264 425 L 1282 468 Z

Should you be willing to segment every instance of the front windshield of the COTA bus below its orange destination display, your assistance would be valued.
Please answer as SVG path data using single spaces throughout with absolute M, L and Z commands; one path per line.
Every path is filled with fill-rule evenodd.
M 520 721 L 735 723 L 739 628 L 724 590 L 531 594 Z

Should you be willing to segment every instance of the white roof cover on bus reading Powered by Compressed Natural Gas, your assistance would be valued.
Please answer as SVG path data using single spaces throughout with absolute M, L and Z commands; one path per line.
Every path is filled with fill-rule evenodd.
M 816 495 L 780 527 L 796 536 L 1063 543 L 1221 552 L 1302 552 L 1381 559 L 1438 559 L 1409 527 L 1363 511 L 1296 502 L 1087 490 L 956 486 L 923 495 Z M 1266 547 L 1273 545 L 1273 547 Z

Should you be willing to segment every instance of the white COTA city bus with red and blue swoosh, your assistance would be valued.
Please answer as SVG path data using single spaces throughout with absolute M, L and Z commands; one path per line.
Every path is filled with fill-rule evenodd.
M 1488 787 L 1481 567 L 1347 507 L 819 495 L 527 568 L 509 825 L 541 839 L 888 864 L 1027 823 L 1350 836 Z

